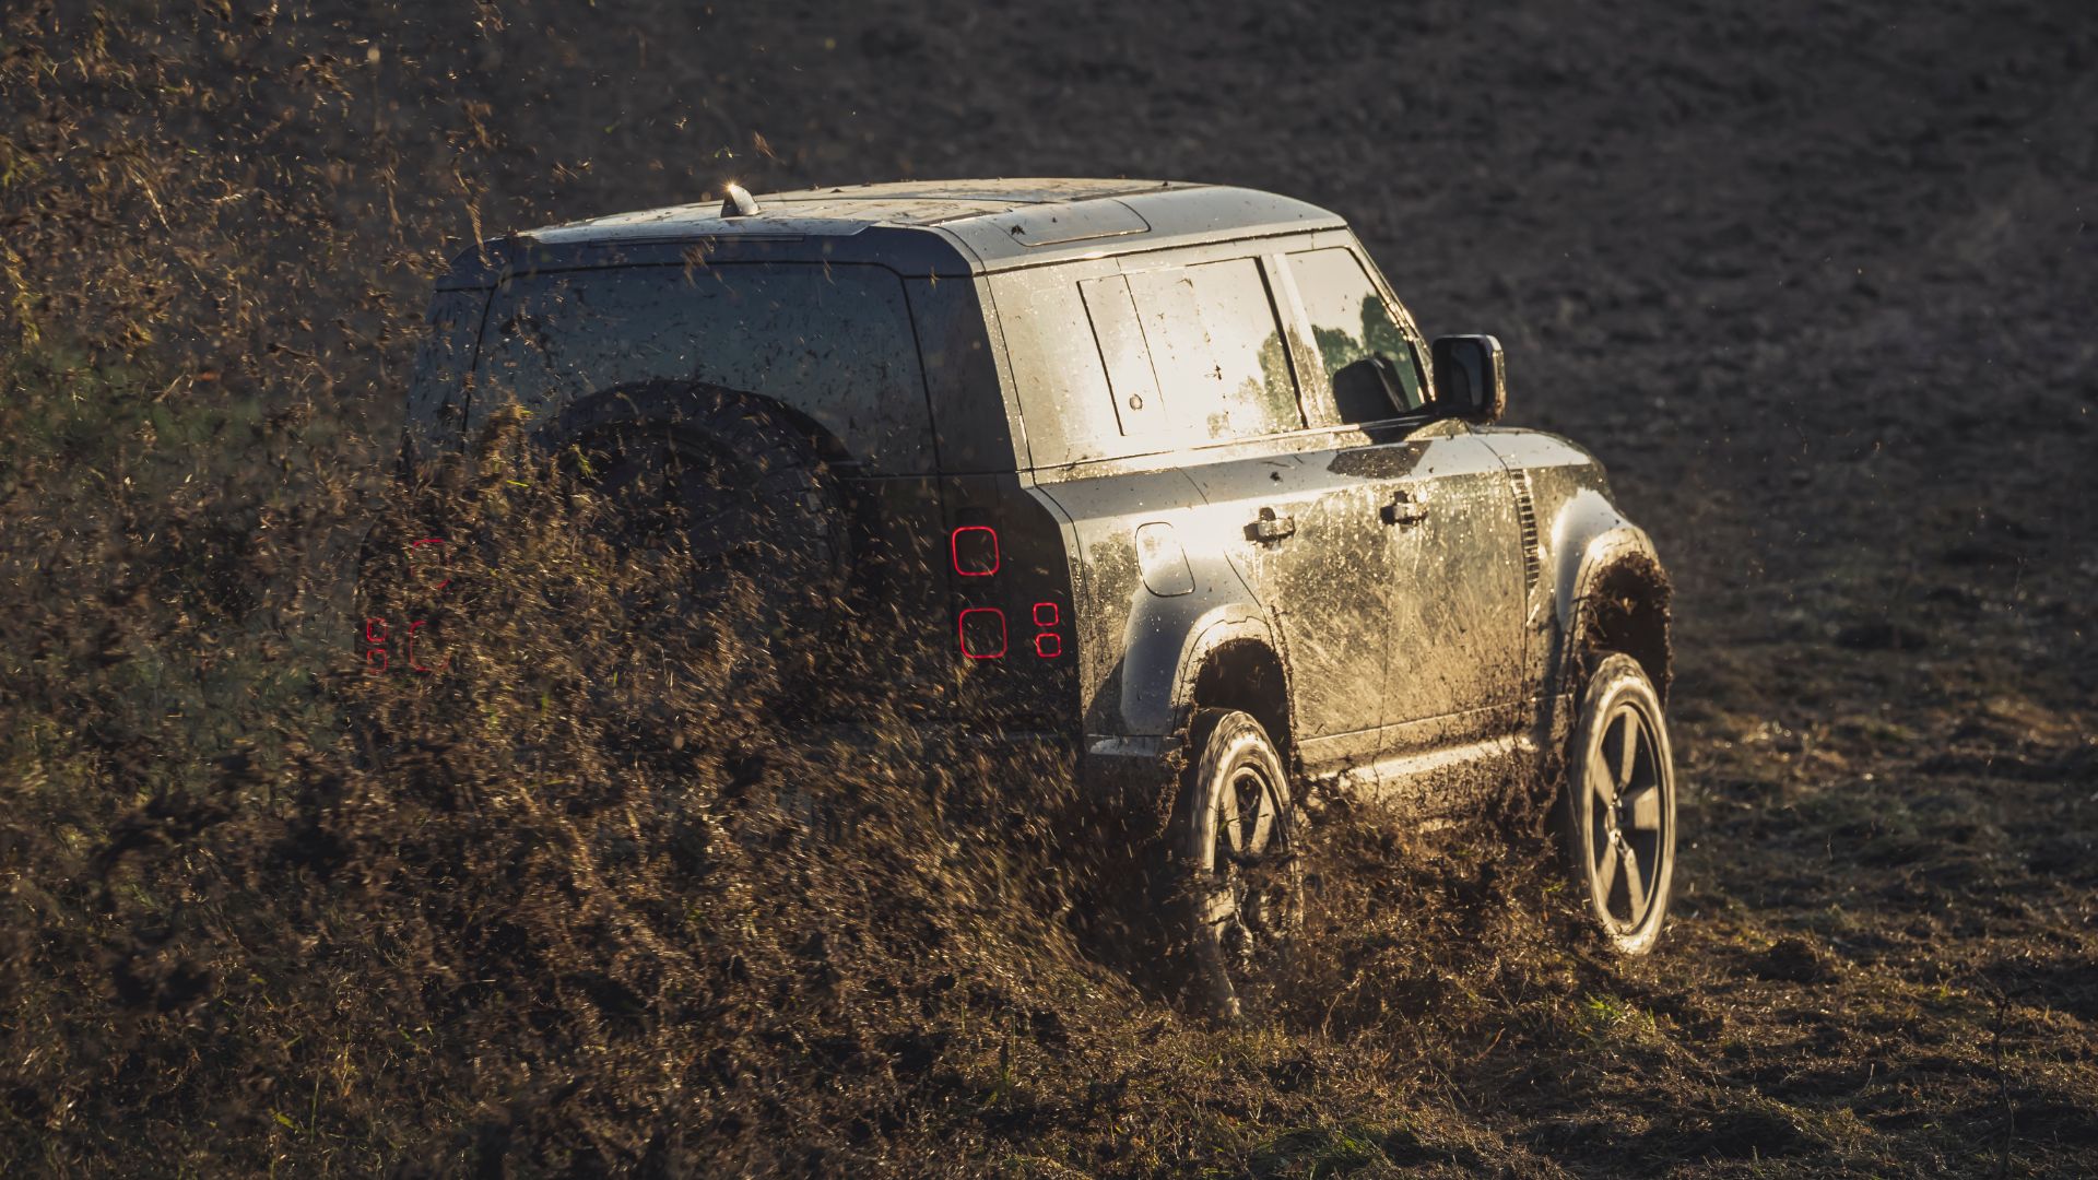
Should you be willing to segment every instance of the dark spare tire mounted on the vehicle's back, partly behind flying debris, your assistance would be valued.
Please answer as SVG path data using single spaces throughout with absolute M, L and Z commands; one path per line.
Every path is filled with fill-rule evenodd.
M 728 391 L 655 386 L 575 407 L 554 439 L 615 554 L 676 567 L 663 628 L 736 642 L 736 689 L 766 703 L 814 680 L 852 554 L 843 489 L 804 430 Z

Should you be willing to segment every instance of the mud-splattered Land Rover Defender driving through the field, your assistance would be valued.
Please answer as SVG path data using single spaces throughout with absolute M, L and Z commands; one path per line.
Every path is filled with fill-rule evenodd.
M 1053 741 L 1173 804 L 1200 1004 L 1294 924 L 1305 792 L 1401 815 L 1561 773 L 1597 932 L 1674 863 L 1668 580 L 1574 443 L 1498 426 L 1490 336 L 1429 342 L 1334 214 L 1150 181 L 808 189 L 478 244 L 436 283 L 405 456 L 506 407 L 766 535 L 768 634 L 858 661 L 831 718 Z M 822 653 L 831 603 L 881 605 Z M 1135 806 L 1135 804 L 1131 804 Z

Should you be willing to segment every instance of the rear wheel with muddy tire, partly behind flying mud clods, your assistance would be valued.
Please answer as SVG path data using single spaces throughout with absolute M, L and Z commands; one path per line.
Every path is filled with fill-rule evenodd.
M 1250 714 L 1198 710 L 1187 754 L 1160 869 L 1169 966 L 1190 1010 L 1238 1020 L 1303 930 L 1297 813 Z

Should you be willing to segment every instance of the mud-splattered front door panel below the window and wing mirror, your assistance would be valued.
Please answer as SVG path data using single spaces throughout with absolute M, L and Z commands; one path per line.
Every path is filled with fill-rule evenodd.
M 1399 445 L 1391 483 L 1385 750 L 1511 733 L 1523 684 L 1523 561 L 1515 491 L 1464 424 Z

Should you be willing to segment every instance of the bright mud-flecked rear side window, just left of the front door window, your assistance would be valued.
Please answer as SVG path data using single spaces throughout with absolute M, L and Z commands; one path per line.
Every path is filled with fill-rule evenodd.
M 1303 428 L 1288 349 L 1253 258 L 1129 275 L 1158 393 L 1200 439 Z M 1127 397 L 1116 386 L 1116 397 Z

